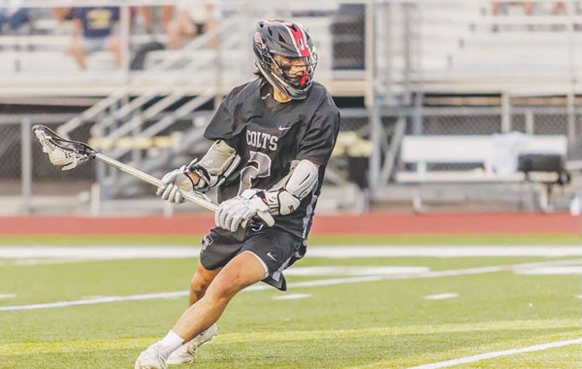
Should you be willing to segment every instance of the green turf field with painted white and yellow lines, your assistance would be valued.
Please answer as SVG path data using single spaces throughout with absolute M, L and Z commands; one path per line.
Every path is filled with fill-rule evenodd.
M 360 240 L 361 237 L 353 238 Z M 143 242 L 149 240 L 151 242 Z M 165 238 L 166 241 L 169 238 Z M 336 241 L 333 241 L 336 240 Z M 341 244 L 349 244 L 343 237 Z M 425 241 L 423 241 L 425 240 Z M 571 237 L 437 238 L 434 244 L 576 244 Z M 129 238 L 20 239 L 13 244 L 133 244 Z M 137 244 L 164 244 L 138 238 Z M 185 244 L 177 238 L 175 244 Z M 317 240 L 340 244 L 335 238 Z M 431 244 L 417 238 L 417 244 Z M 136 243 L 136 240 L 134 240 Z M 169 241 L 167 243 L 170 243 Z M 381 244 L 370 238 L 370 244 Z M 392 238 L 384 244 L 407 244 Z M 197 243 L 196 243 L 197 244 Z M 408 243 L 410 244 L 410 243 Z M 580 265 L 579 258 L 572 265 Z M 296 266 L 426 266 L 431 271 L 551 262 L 540 257 L 306 258 Z M 137 259 L 23 265 L 0 260 L 0 308 L 187 289 L 196 259 Z M 24 263 L 26 264 L 26 263 Z M 454 274 L 454 273 L 453 273 Z M 345 279 L 290 276 L 288 281 Z M 219 321 L 195 364 L 177 368 L 411 368 L 477 354 L 580 338 L 580 275 L 512 271 L 246 291 Z M 456 297 L 428 300 L 452 293 Z M 306 294 L 275 300 L 285 294 Z M 132 368 L 165 335 L 186 297 L 0 311 L 0 368 Z M 516 353 L 453 368 L 580 368 L 580 345 Z

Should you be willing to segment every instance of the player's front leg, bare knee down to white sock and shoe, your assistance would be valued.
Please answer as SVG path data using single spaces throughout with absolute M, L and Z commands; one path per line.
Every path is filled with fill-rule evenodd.
M 264 277 L 264 266 L 251 252 L 235 256 L 212 280 L 204 296 L 184 311 L 168 335 L 140 354 L 135 369 L 165 367 L 169 354 L 210 328 L 238 291 Z

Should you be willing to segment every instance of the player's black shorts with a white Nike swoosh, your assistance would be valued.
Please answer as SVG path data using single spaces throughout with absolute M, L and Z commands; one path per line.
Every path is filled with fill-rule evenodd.
M 282 272 L 297 259 L 301 238 L 289 232 L 269 227 L 249 229 L 242 242 L 222 229 L 212 229 L 202 240 L 200 263 L 208 270 L 222 268 L 241 252 L 250 251 L 262 262 L 265 279 L 262 282 L 286 291 L 287 283 Z

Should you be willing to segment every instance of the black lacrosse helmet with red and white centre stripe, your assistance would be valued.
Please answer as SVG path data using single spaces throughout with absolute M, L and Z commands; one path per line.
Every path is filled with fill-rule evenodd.
M 261 20 L 254 34 L 253 51 L 257 68 L 273 87 L 290 99 L 301 100 L 307 97 L 313 85 L 317 54 L 311 37 L 301 24 L 281 19 Z M 273 58 L 275 54 L 301 58 L 305 66 L 303 75 L 290 75 L 291 65 L 276 62 Z

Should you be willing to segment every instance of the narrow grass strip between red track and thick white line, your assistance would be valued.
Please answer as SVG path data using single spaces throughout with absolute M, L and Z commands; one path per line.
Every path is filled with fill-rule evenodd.
M 201 234 L 192 235 L 0 235 L 0 246 L 16 245 L 200 245 Z M 308 245 L 580 245 L 576 234 L 314 234 Z

